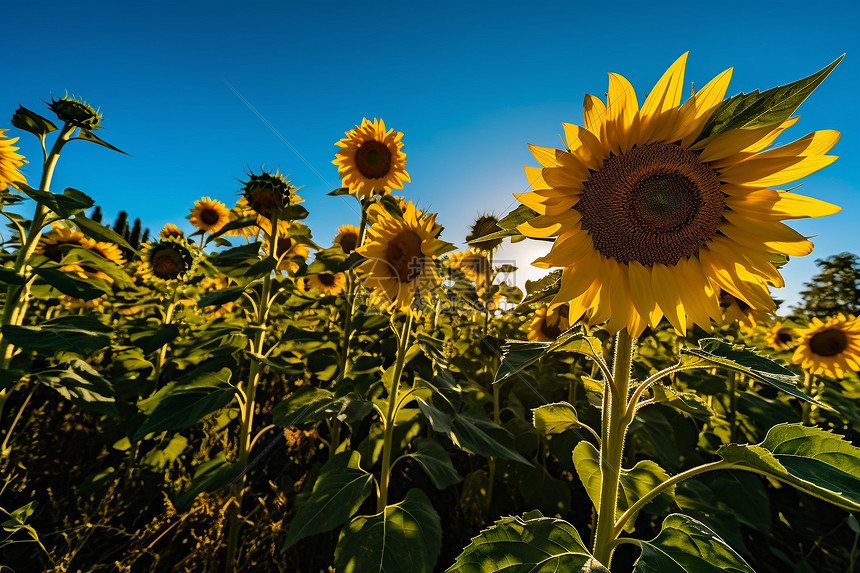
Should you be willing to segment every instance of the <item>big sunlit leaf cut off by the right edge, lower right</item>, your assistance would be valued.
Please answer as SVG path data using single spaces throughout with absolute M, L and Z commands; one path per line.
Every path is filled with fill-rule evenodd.
M 780 424 L 757 445 L 728 444 L 717 455 L 851 511 L 860 510 L 860 449 L 842 436 Z

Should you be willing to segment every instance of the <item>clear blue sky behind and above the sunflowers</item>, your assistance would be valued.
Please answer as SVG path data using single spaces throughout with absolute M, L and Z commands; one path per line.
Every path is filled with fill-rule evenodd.
M 334 142 L 362 117 L 405 132 L 406 195 L 438 210 L 444 238 L 460 242 L 482 212 L 504 214 L 526 188 L 526 143 L 556 145 L 561 122 L 581 123 L 584 93 L 606 73 L 641 96 L 689 50 L 686 82 L 725 68 L 729 94 L 770 88 L 847 56 L 800 108 L 785 140 L 842 131 L 832 166 L 801 192 L 837 203 L 836 215 L 794 227 L 819 235 L 812 255 L 785 269 L 789 303 L 814 259 L 860 252 L 858 78 L 853 2 L 56 2 L 3 9 L 0 114 L 66 90 L 101 106 L 99 135 L 134 155 L 77 142 L 54 190 L 89 193 L 107 218 L 120 209 L 153 232 L 203 195 L 228 205 L 236 179 L 261 165 L 290 173 L 311 211 L 315 239 L 355 222 L 338 186 Z M 230 89 L 290 142 L 308 167 Z M 8 119 L 0 127 L 8 127 Z M 38 180 L 38 147 L 23 134 Z M 319 174 L 319 176 L 317 175 Z M 521 243 L 522 245 L 522 243 Z M 508 249 L 519 281 L 542 247 Z M 543 247 L 545 250 L 545 247 Z

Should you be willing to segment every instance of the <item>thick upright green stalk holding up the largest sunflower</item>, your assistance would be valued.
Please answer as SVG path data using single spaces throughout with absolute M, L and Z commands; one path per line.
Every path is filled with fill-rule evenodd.
M 594 534 L 594 557 L 609 567 L 615 534 L 615 508 L 621 478 L 621 458 L 624 439 L 630 425 L 627 415 L 627 394 L 630 389 L 630 368 L 633 360 L 633 338 L 627 330 L 615 338 L 615 360 L 612 380 L 603 395 L 603 435 L 600 440 L 600 504 Z

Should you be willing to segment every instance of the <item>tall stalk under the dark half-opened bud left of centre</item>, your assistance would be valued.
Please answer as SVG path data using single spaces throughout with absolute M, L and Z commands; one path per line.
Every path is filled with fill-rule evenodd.
M 277 257 L 278 252 L 278 217 L 273 216 L 271 219 L 272 231 L 269 235 L 269 256 Z M 271 273 L 263 277 L 263 289 L 260 294 L 260 304 L 257 307 L 257 320 L 254 339 L 252 341 L 251 350 L 257 354 L 264 354 L 263 343 L 266 340 L 266 318 L 269 314 L 269 303 L 272 296 L 272 275 Z M 230 529 L 227 537 L 227 558 L 226 571 L 228 573 L 235 571 L 238 563 L 238 547 L 239 547 L 239 529 L 241 520 L 239 514 L 242 509 L 242 498 L 245 492 L 245 470 L 248 468 L 248 457 L 251 452 L 251 428 L 254 423 L 254 401 L 257 395 L 257 383 L 260 379 L 260 362 L 256 359 L 251 360 L 250 371 L 248 373 L 248 382 L 244 388 L 245 401 L 239 408 L 241 425 L 239 427 L 239 467 L 242 468 L 241 477 L 233 485 L 231 496 L 233 501 L 228 509 L 227 521 L 230 524 Z

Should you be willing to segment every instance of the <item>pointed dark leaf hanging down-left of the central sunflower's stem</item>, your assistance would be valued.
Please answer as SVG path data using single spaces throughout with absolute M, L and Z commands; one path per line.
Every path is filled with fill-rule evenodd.
M 329 458 L 310 497 L 299 505 L 282 552 L 305 537 L 342 525 L 358 511 L 373 484 L 373 476 L 361 469 L 360 461 L 358 452 L 341 452 Z

